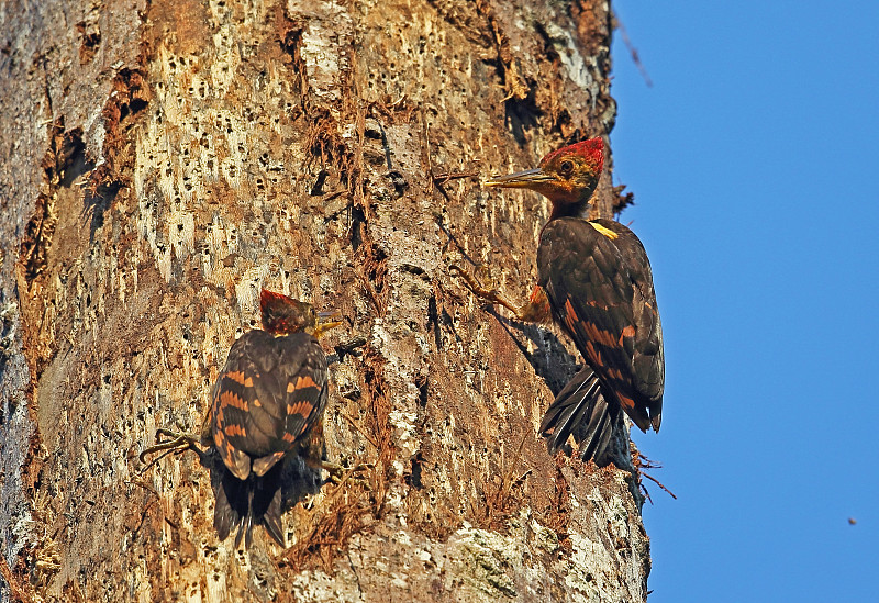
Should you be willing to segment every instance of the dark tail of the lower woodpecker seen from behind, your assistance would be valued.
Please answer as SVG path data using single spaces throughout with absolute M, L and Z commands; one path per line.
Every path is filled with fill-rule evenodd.
M 235 531 L 235 548 L 244 539 L 245 548 L 253 544 L 253 527 L 263 524 L 268 535 L 286 547 L 281 526 L 281 466 L 278 464 L 265 476 L 251 473 L 240 480 L 225 467 L 216 489 L 213 526 L 221 540 Z

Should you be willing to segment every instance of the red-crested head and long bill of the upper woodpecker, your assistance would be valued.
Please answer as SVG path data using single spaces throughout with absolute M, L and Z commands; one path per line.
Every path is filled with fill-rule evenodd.
M 604 142 L 589 138 L 554 150 L 534 169 L 496 176 L 485 186 L 531 189 L 549 199 L 556 209 L 585 205 L 598 187 L 603 166 Z

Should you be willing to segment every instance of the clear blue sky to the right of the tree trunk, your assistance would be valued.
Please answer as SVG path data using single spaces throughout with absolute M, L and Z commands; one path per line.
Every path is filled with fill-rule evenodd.
M 616 0 L 654 267 L 650 603 L 879 601 L 879 2 Z M 848 518 L 857 523 L 849 525 Z

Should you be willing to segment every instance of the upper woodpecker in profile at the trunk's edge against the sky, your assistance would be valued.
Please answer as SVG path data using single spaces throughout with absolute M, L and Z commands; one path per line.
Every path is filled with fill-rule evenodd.
M 619 222 L 587 219 L 603 149 L 601 138 L 590 138 L 548 154 L 537 168 L 485 182 L 539 192 L 553 211 L 541 232 L 530 303 L 515 308 L 492 291 L 482 295 L 525 320 L 548 304 L 571 337 L 586 364 L 547 410 L 541 435 L 555 453 L 574 434 L 583 460 L 599 465 L 610 461 L 621 409 L 643 432 L 659 431 L 665 386 L 663 327 L 644 246 Z

